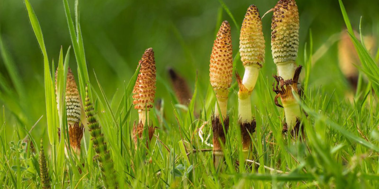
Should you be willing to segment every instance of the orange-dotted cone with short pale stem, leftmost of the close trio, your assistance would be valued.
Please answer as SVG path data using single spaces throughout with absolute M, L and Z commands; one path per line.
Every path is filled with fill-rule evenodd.
M 210 83 L 216 93 L 219 104 L 218 107 L 216 102 L 215 115 L 219 116 L 221 113 L 223 119 L 225 119 L 229 87 L 232 83 L 233 72 L 232 37 L 230 34 L 230 25 L 227 21 L 222 22 L 216 40 L 213 43 L 209 66 Z M 219 112 L 218 108 L 221 112 Z

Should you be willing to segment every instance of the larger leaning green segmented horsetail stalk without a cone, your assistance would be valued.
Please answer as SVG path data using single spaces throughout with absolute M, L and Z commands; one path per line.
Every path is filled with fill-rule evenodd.
M 86 101 L 85 101 L 85 113 L 88 120 L 89 134 L 93 141 L 94 149 L 96 152 L 96 160 L 99 161 L 99 167 L 102 171 L 102 179 L 106 188 L 117 187 L 116 172 L 113 168 L 113 161 L 109 153 L 108 147 L 105 142 L 103 133 L 99 122 L 95 117 L 95 110 L 92 105 L 91 99 L 88 96 L 88 87 L 86 86 Z

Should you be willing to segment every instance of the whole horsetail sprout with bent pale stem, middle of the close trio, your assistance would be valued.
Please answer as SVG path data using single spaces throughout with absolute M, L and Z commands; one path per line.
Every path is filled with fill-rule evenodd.
M 238 91 L 238 115 L 242 134 L 244 157 L 247 159 L 251 148 L 250 134 L 255 131 L 251 115 L 251 93 L 257 83 L 260 68 L 265 60 L 265 39 L 258 8 L 249 6 L 240 33 L 241 61 L 245 68 L 243 79 L 236 72 Z

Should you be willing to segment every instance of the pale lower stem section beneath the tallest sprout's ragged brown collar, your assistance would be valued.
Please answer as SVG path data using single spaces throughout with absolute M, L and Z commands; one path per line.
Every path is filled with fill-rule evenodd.
M 287 103 L 283 103 L 283 107 L 284 107 L 285 121 L 287 123 L 287 130 L 288 132 L 290 132 L 296 125 L 296 119 L 300 118 L 301 116 L 300 106 L 298 102 L 293 100 Z

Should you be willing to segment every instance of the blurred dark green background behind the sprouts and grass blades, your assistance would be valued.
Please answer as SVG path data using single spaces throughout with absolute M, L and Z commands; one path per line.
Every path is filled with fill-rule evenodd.
M 273 8 L 276 0 L 225 0 L 230 12 L 240 27 L 249 5 L 255 4 L 261 16 Z M 309 53 L 310 30 L 313 37 L 313 52 L 324 45 L 330 36 L 340 33 L 345 23 L 338 0 L 298 0 L 300 15 L 300 47 L 298 64 L 304 65 L 304 47 Z M 30 0 L 41 24 L 49 55 L 58 60 L 59 50 L 64 52 L 71 45 L 63 2 L 60 0 Z M 74 0 L 69 1 L 73 11 Z M 359 30 L 362 16 L 362 32 L 378 37 L 378 0 L 343 0 L 353 28 Z M 95 83 L 94 72 L 105 90 L 108 99 L 121 98 L 124 81 L 134 73 L 144 50 L 152 47 L 157 64 L 157 94 L 166 102 L 166 113 L 171 115 L 172 100 L 169 95 L 167 69 L 174 68 L 193 88 L 196 72 L 199 76 L 199 100 L 204 100 L 209 86 L 209 59 L 215 33 L 219 28 L 218 15 L 232 26 L 233 54 L 239 50 L 239 29 L 218 0 L 80 0 L 80 23 L 83 32 L 86 60 L 90 80 Z M 271 15 L 263 17 L 263 33 L 266 39 L 266 62 L 262 78 L 274 81 L 271 75 L 276 68 L 271 58 Z M 0 34 L 9 58 L 19 71 L 26 96 L 1 96 L 0 105 L 5 105 L 5 120 L 30 128 L 41 115 L 45 115 L 43 58 L 34 37 L 23 0 L 0 0 Z M 76 62 L 71 51 L 70 67 L 76 72 Z M 237 70 L 243 73 L 238 60 Z M 13 84 L 3 59 L 0 59 L 0 74 Z M 233 82 L 234 79 L 233 79 Z M 327 93 L 335 89 L 335 101 L 345 97 L 349 84 L 338 68 L 337 44 L 315 62 L 310 74 L 310 87 L 317 90 L 323 86 Z M 119 91 L 117 91 L 119 89 Z M 329 92 L 328 92 L 329 91 Z M 5 94 L 5 91 L 0 91 Z M 273 93 L 274 95 L 274 93 Z M 25 109 L 25 118 L 17 120 L 13 113 L 18 107 L 10 98 L 19 98 Z M 27 99 L 25 99 L 27 98 Z M 235 98 L 232 97 L 232 98 Z M 253 96 L 254 98 L 254 96 Z M 253 100 L 253 103 L 257 102 Z M 117 104 L 117 103 L 116 103 Z M 200 108 L 200 107 L 198 107 Z M 0 116 L 3 118 L 3 115 Z M 170 116 L 169 118 L 170 119 Z M 45 124 L 45 119 L 40 122 Z M 9 125 L 9 124 L 8 124 Z M 36 133 L 45 130 L 36 128 Z

